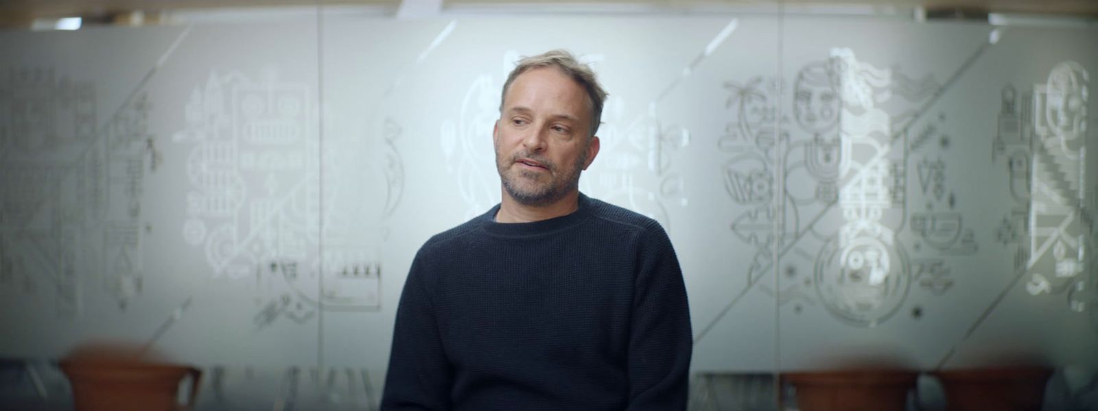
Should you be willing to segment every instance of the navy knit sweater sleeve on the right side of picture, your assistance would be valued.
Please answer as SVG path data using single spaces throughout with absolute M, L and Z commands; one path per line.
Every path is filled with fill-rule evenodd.
M 693 336 L 682 270 L 671 240 L 658 225 L 645 230 L 640 243 L 629 328 L 627 411 L 685 410 Z

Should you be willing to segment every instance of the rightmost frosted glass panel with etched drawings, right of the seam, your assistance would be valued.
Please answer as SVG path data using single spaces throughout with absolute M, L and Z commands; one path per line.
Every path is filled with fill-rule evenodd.
M 1095 32 L 786 27 L 781 366 L 1094 363 Z

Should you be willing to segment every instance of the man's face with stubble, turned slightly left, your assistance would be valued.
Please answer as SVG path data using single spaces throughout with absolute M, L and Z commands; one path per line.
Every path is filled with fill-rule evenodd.
M 548 205 L 578 190 L 580 172 L 598 153 L 591 133 L 591 101 L 554 67 L 519 75 L 495 123 L 495 167 L 505 195 L 524 205 Z

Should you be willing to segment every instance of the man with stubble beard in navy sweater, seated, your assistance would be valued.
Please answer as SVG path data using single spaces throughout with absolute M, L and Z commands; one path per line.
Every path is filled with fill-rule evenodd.
M 606 92 L 552 50 L 518 62 L 493 130 L 500 205 L 428 240 L 383 410 L 684 410 L 682 272 L 654 220 L 579 192 Z

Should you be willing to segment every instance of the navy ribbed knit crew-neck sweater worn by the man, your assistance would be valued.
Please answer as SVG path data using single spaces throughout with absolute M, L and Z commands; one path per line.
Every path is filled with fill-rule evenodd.
M 382 410 L 685 410 L 690 311 L 660 225 L 583 194 L 542 221 L 498 208 L 416 254 Z

